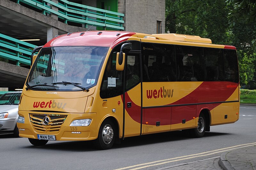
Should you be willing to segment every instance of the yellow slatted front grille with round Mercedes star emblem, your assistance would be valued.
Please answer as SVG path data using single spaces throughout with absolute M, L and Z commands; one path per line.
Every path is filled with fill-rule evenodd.
M 29 117 L 36 132 L 58 133 L 67 115 L 29 114 Z

